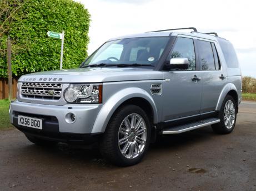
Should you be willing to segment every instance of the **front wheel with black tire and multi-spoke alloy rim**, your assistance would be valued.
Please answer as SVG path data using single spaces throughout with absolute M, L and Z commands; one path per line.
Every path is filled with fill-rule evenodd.
M 100 151 L 104 158 L 117 166 L 137 164 L 149 147 L 150 130 L 151 125 L 144 110 L 136 105 L 123 106 L 109 121 Z

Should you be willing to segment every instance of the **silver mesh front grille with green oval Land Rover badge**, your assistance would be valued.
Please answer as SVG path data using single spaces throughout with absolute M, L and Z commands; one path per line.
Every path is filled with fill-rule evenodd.
M 59 83 L 22 82 L 21 85 L 22 97 L 31 99 L 59 100 L 61 91 Z

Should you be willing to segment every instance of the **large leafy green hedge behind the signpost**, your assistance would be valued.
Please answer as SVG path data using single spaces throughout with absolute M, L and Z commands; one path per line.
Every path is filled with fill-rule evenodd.
M 72 0 L 25 0 L 11 23 L 9 35 L 14 47 L 13 74 L 59 69 L 61 40 L 49 38 L 48 30 L 65 31 L 63 69 L 76 68 L 87 57 L 90 14 Z M 19 18 L 20 17 L 20 18 Z M 6 49 L 7 34 L 0 40 Z M 0 77 L 7 77 L 6 54 L 0 58 Z

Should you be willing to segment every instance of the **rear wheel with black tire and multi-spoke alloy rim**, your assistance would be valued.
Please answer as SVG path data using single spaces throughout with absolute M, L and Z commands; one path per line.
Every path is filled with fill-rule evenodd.
M 231 133 L 237 120 L 237 102 L 230 95 L 227 95 L 219 111 L 219 123 L 212 125 L 213 131 L 218 134 Z

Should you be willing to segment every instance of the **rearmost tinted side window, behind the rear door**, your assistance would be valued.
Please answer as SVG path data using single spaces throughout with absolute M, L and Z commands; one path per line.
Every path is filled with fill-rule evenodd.
M 218 39 L 222 52 L 224 54 L 225 61 L 228 68 L 238 68 L 237 54 L 235 53 L 233 45 L 224 39 Z

